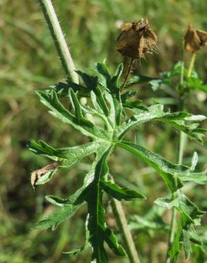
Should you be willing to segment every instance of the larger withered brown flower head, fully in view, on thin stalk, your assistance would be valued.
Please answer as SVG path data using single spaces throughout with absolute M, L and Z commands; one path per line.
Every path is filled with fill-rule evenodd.
M 145 53 L 152 53 L 157 48 L 157 36 L 150 28 L 147 20 L 123 23 L 118 36 L 116 49 L 121 55 L 129 58 L 143 58 Z

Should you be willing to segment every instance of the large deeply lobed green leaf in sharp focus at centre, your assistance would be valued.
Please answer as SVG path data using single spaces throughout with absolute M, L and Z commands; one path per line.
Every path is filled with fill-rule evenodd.
M 139 101 L 130 101 L 130 97 L 133 97 L 135 92 L 121 94 L 119 78 L 122 71 L 123 65 L 121 64 L 118 66 L 116 73 L 111 75 L 104 63 L 97 63 L 95 76 L 77 71 L 79 76 L 82 77 L 82 84 L 79 85 L 81 90 L 74 83 L 68 82 L 64 85 L 55 85 L 45 92 L 37 92 L 40 101 L 50 109 L 50 114 L 62 122 L 72 125 L 79 132 L 88 136 L 91 142 L 81 146 L 55 149 L 44 141 L 30 141 L 28 144 L 30 150 L 35 154 L 47 156 L 52 160 L 58 161 L 57 168 L 69 168 L 74 163 L 77 163 L 77 161 L 93 153 L 95 154 L 95 158 L 91 164 L 89 173 L 84 178 L 82 187 L 77 189 L 73 195 L 67 198 L 47 195 L 47 200 L 50 203 L 58 205 L 61 208 L 43 218 L 43 220 L 35 225 L 35 228 L 47 229 L 52 227 L 52 230 L 55 230 L 57 225 L 71 217 L 76 210 L 86 204 L 88 210 L 86 218 L 86 243 L 83 247 L 66 254 L 79 254 L 91 247 L 92 262 L 108 262 L 108 256 L 104 247 L 106 243 L 115 254 L 125 256 L 125 251 L 118 243 L 116 235 L 113 234 L 106 224 L 103 194 L 105 192 L 118 200 L 143 200 L 145 196 L 130 188 L 121 188 L 121 186 L 110 181 L 108 159 L 115 147 L 121 147 L 138 156 L 138 158 L 145 161 L 152 168 L 155 168 L 167 183 L 171 193 L 177 195 L 177 198 L 172 202 L 164 199 L 157 200 L 157 203 L 159 205 L 164 204 L 167 208 L 175 207 L 179 210 L 182 224 L 181 230 L 183 232 L 177 234 L 177 242 L 172 250 L 175 251 L 173 252 L 174 255 L 178 254 L 180 242 L 186 240 L 184 246 L 186 257 L 189 257 L 190 248 L 187 248 L 189 247 L 191 236 L 189 234 L 189 227 L 191 228 L 198 222 L 203 212 L 199 211 L 196 205 L 184 195 L 179 195 L 179 188 L 183 186 L 184 181 L 206 183 L 206 171 L 194 173 L 197 161 L 196 155 L 194 155 L 191 167 L 181 166 L 167 161 L 162 156 L 154 154 L 152 151 L 138 144 L 123 141 L 123 138 L 131 129 L 135 129 L 140 124 L 153 120 L 170 124 L 172 127 L 185 132 L 192 139 L 201 141 L 202 131 L 198 129 L 198 124 L 187 126 L 183 121 L 200 121 L 205 119 L 205 117 L 194 116 L 187 112 L 164 112 L 162 104 L 147 107 L 140 104 Z M 82 92 L 88 94 L 87 105 L 79 102 Z M 69 98 L 72 105 L 71 110 L 68 110 L 60 102 L 61 97 Z M 132 114 L 129 114 L 126 109 L 130 109 Z M 45 178 L 44 175 L 42 178 L 44 180 L 41 181 L 41 178 L 39 178 L 36 184 L 40 184 L 40 181 L 41 183 L 46 183 L 52 176 L 47 175 Z

